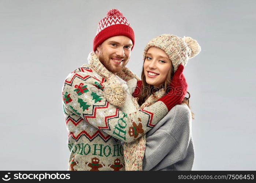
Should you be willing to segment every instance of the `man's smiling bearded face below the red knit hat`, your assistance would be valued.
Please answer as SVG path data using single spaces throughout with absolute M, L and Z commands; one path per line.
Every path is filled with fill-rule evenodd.
M 133 42 L 126 36 L 114 36 L 97 47 L 100 62 L 112 73 L 119 72 L 130 59 Z

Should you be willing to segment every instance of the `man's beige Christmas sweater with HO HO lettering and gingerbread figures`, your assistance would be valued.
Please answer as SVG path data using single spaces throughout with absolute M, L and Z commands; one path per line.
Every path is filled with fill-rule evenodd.
M 118 79 L 94 52 L 71 72 L 62 88 L 63 112 L 68 131 L 69 170 L 125 170 L 120 143 L 132 142 L 151 130 L 167 113 L 162 102 L 125 113 L 111 104 L 105 83 Z M 113 79 L 116 78 L 116 79 Z

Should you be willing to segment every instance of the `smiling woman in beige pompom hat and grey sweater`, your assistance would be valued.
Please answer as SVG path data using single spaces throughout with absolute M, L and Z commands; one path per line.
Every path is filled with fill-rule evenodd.
M 163 34 L 149 41 L 144 49 L 141 81 L 137 82 L 134 93 L 131 91 L 140 108 L 152 105 L 170 90 L 179 90 L 168 87 L 180 82 L 177 77 L 172 81 L 172 76 L 177 72 L 182 73 L 188 59 L 200 51 L 197 41 L 190 37 Z M 124 68 L 117 75 L 124 78 L 131 74 Z M 134 80 L 127 82 L 129 88 L 136 86 Z M 126 170 L 192 170 L 194 149 L 189 97 L 173 107 L 147 135 L 132 143 L 124 143 Z M 123 108 L 130 108 L 126 111 L 133 110 L 130 104 Z

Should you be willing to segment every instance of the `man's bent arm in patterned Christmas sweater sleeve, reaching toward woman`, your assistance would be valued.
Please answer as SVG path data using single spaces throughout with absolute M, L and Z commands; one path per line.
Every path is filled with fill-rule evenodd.
M 167 113 L 162 101 L 127 114 L 102 96 L 102 83 L 89 72 L 73 72 L 63 86 L 65 108 L 94 127 L 124 142 L 132 142 L 149 131 Z

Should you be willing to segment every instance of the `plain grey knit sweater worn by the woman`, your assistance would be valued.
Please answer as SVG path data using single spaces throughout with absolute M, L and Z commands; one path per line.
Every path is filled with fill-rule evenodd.
M 173 107 L 146 134 L 143 170 L 191 171 L 194 163 L 191 122 L 186 104 Z

